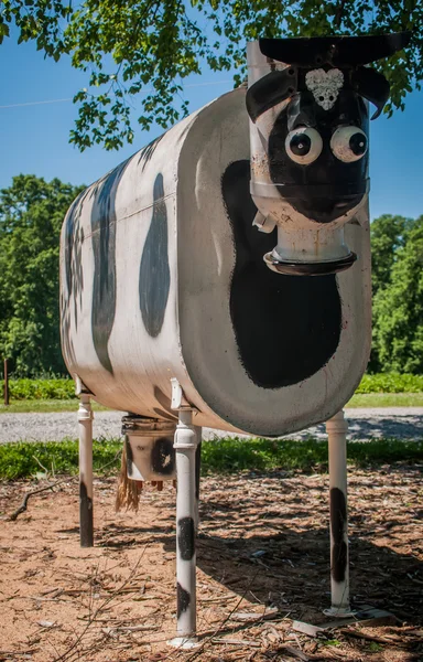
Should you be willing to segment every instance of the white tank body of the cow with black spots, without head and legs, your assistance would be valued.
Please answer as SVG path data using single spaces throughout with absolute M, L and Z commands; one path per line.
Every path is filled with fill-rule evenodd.
M 61 246 L 63 354 L 109 407 L 280 436 L 327 420 L 370 350 L 367 200 L 345 226 L 359 256 L 337 275 L 272 271 L 252 225 L 246 90 L 176 125 L 75 201 Z M 367 196 L 366 196 L 367 199 Z

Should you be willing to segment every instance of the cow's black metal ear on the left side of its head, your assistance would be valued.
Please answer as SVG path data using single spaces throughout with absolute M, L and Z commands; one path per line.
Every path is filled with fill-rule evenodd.
M 247 92 L 247 111 L 252 121 L 260 115 L 284 102 L 297 89 L 297 71 L 286 67 L 274 71 L 253 83 Z

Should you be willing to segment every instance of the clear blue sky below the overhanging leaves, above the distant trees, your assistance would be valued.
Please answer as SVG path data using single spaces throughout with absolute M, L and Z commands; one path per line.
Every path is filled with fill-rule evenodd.
M 72 99 L 88 86 L 88 74 L 73 70 L 68 60 L 45 60 L 34 44 L 18 45 L 13 38 L 0 46 L 0 188 L 20 173 L 89 184 L 162 132 L 137 126 L 131 146 L 112 152 L 96 146 L 80 153 L 68 142 L 77 107 L 56 99 Z M 231 87 L 228 72 L 186 78 L 191 111 Z M 371 218 L 423 214 L 423 92 L 410 94 L 405 105 L 403 113 L 370 125 Z

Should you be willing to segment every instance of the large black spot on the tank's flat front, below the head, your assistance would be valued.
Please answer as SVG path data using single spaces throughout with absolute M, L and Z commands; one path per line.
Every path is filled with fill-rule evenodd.
M 276 245 L 276 231 L 267 235 L 252 226 L 257 209 L 249 181 L 249 161 L 231 163 L 223 178 L 236 249 L 230 317 L 251 381 L 279 388 L 311 377 L 334 354 L 340 298 L 335 276 L 284 276 L 265 266 L 263 255 Z

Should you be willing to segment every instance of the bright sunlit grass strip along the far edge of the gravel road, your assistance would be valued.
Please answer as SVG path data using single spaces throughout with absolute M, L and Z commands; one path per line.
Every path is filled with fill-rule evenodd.
M 356 394 L 346 405 L 354 407 L 423 407 L 423 393 L 364 393 Z M 72 399 L 22 399 L 12 401 L 8 407 L 0 404 L 0 414 L 24 414 L 30 412 L 76 412 L 78 401 Z M 95 412 L 107 407 L 93 401 Z

